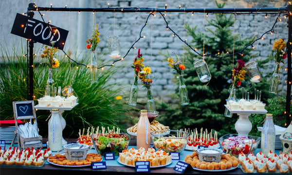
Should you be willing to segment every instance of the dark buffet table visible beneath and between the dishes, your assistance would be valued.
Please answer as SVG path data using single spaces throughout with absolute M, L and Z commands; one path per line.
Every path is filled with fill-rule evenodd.
M 43 140 L 45 142 L 46 140 Z M 76 140 L 68 140 L 70 142 L 76 142 Z M 9 148 L 10 145 L 6 145 Z M 17 146 L 17 145 L 15 145 Z M 136 140 L 131 140 L 129 143 L 129 147 L 136 148 Z M 259 152 L 259 149 L 255 151 L 255 153 Z M 95 149 L 89 150 L 89 153 L 97 153 Z M 53 152 L 53 155 L 56 152 Z M 180 155 L 180 160 L 184 161 L 186 155 L 191 155 L 192 151 L 184 150 Z M 115 160 L 106 160 L 107 169 L 103 170 L 93 170 L 91 166 L 87 167 L 60 167 L 50 164 L 49 162 L 45 162 L 42 167 L 36 166 L 17 166 L 17 165 L 0 165 L 0 174 L 1 175 L 137 175 L 138 173 L 135 172 L 135 168 L 127 167 L 121 165 L 117 162 L 118 156 L 115 157 Z M 144 174 L 151 174 L 151 175 L 160 175 L 160 174 L 167 174 L 167 175 L 174 175 L 174 174 L 182 174 L 181 172 L 175 171 L 173 168 L 177 164 L 178 160 L 172 160 L 172 163 L 166 167 L 161 168 L 151 168 L 150 173 Z M 216 175 L 244 175 L 241 169 L 238 167 L 234 170 L 224 171 L 224 172 L 203 172 L 203 171 L 196 171 L 190 168 L 187 169 L 183 174 L 216 174 Z M 250 173 L 253 174 L 253 173 Z M 257 174 L 267 174 L 267 173 L 257 173 Z

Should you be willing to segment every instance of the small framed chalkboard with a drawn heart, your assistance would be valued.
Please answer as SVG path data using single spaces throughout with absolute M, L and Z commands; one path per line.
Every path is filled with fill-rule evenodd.
M 16 119 L 35 119 L 36 111 L 34 101 L 13 102 L 13 110 Z

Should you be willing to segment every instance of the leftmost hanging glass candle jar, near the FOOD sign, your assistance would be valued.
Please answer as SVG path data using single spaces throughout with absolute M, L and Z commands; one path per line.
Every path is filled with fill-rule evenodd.
M 121 46 L 118 35 L 108 36 L 108 48 L 110 51 L 110 57 L 119 58 L 121 56 Z

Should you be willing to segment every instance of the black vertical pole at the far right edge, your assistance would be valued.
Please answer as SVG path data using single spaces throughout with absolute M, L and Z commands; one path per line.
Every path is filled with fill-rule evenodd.
M 292 70 L 291 70 L 291 52 L 292 52 L 292 5 L 288 5 L 290 13 L 288 13 L 288 41 L 287 41 L 287 94 L 286 94 L 286 124 L 289 125 L 291 122 L 290 115 L 290 104 L 291 104 L 291 81 L 292 81 Z

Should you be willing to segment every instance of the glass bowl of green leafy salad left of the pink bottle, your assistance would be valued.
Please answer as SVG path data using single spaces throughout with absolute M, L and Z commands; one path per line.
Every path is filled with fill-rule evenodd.
M 115 156 L 128 148 L 130 136 L 127 133 L 92 134 L 94 148 L 104 156 L 106 152 L 114 152 Z

